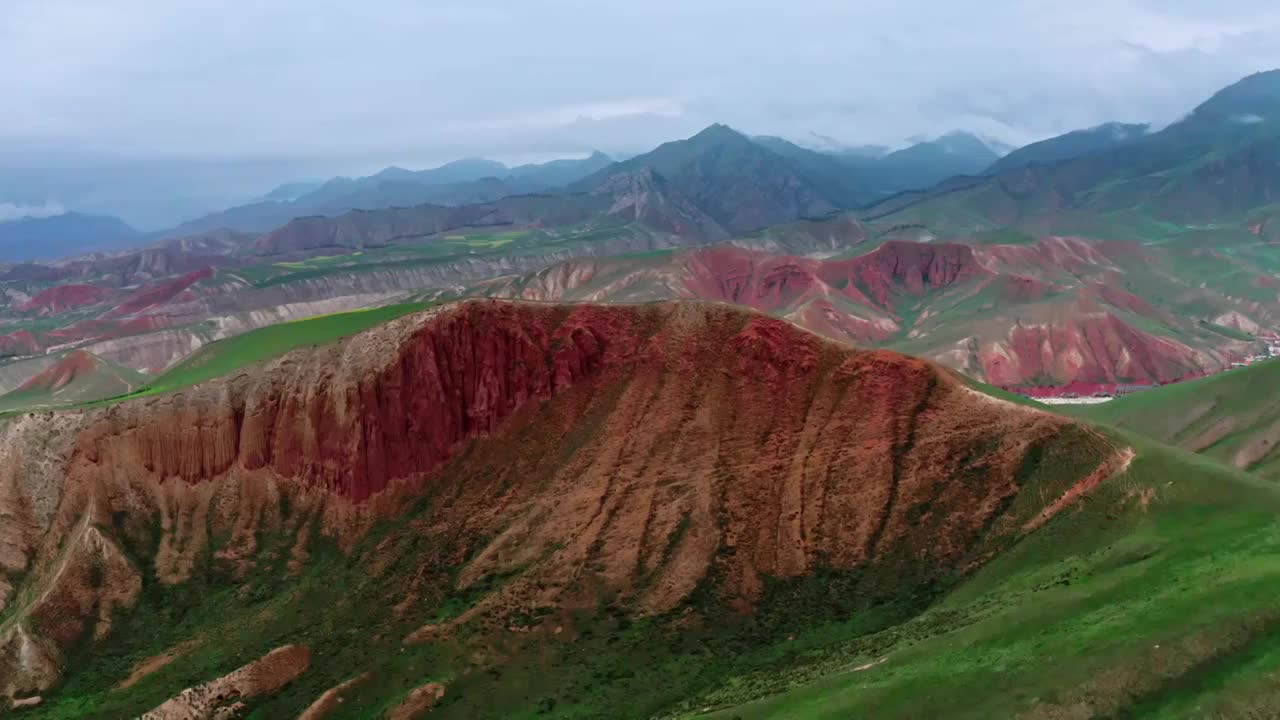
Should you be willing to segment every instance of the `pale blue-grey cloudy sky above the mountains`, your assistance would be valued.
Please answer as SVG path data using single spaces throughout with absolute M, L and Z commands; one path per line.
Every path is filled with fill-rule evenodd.
M 4 0 L 0 217 L 76 205 L 50 168 L 182 165 L 216 188 L 195 208 L 387 164 L 640 152 L 712 122 L 1016 146 L 1171 122 L 1280 67 L 1277 31 L 1272 0 Z M 58 182 L 19 197 L 22 173 Z

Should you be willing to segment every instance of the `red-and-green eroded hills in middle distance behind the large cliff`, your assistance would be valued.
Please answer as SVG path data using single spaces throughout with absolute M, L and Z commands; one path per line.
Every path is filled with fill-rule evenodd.
M 964 240 L 964 238 L 959 238 Z M 886 241 L 852 258 L 736 245 L 581 258 L 466 292 L 540 301 L 698 299 L 745 305 L 827 337 L 931 357 L 998 386 L 1170 382 L 1257 351 L 1280 322 L 1248 284 L 1207 290 L 1176 273 L 1194 260 L 1130 242 L 1047 237 L 1025 245 Z M 1083 388 L 1082 388 L 1083 391 Z M 1092 392 L 1092 391 L 1088 391 Z

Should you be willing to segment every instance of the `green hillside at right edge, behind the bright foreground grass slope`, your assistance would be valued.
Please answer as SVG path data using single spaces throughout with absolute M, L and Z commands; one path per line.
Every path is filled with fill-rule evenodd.
M 1277 387 L 1280 360 L 1270 360 L 1101 405 L 1070 406 L 1070 411 L 1280 477 Z

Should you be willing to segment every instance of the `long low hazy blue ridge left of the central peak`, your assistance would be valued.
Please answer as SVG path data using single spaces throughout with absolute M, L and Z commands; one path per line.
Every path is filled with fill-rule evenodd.
M 169 231 L 182 236 L 230 228 L 268 232 L 294 218 L 334 217 L 349 210 L 379 210 L 413 205 L 471 205 L 509 195 L 540 192 L 586 177 L 612 160 L 603 152 L 584 159 L 553 160 L 508 168 L 502 163 L 467 158 L 428 170 L 387 168 L 362 178 L 333 178 L 324 183 L 292 183 L 275 188 L 260 202 L 239 205 L 189 220 Z M 301 192 L 300 192 L 301 191 Z

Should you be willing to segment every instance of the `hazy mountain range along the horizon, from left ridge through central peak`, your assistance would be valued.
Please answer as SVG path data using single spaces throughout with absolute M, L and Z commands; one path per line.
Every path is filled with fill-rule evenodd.
M 364 178 L 291 183 L 259 202 L 230 208 L 183 223 L 168 234 L 215 228 L 264 232 L 293 218 L 338 215 L 413 205 L 471 205 L 512 195 L 585 192 L 604 178 L 649 168 L 730 232 L 758 229 L 836 209 L 868 205 L 902 190 L 924 188 L 957 173 L 975 173 L 996 159 L 977 137 L 951 133 L 936 141 L 868 156 L 808 150 L 777 137 L 749 138 L 716 124 L 650 152 L 613 163 L 603 152 L 582 160 L 554 160 L 508 168 L 484 159 L 463 159 L 428 170 L 387 168 Z M 735 184 L 736 183 L 736 184 Z M 764 187 L 773 183 L 774 187 Z M 735 187 L 730 188 L 730 184 Z M 782 190 L 783 186 L 792 186 Z M 724 195 L 710 197 L 710 195 Z M 737 197 L 736 193 L 744 193 Z M 730 218 L 730 205 L 758 217 Z

